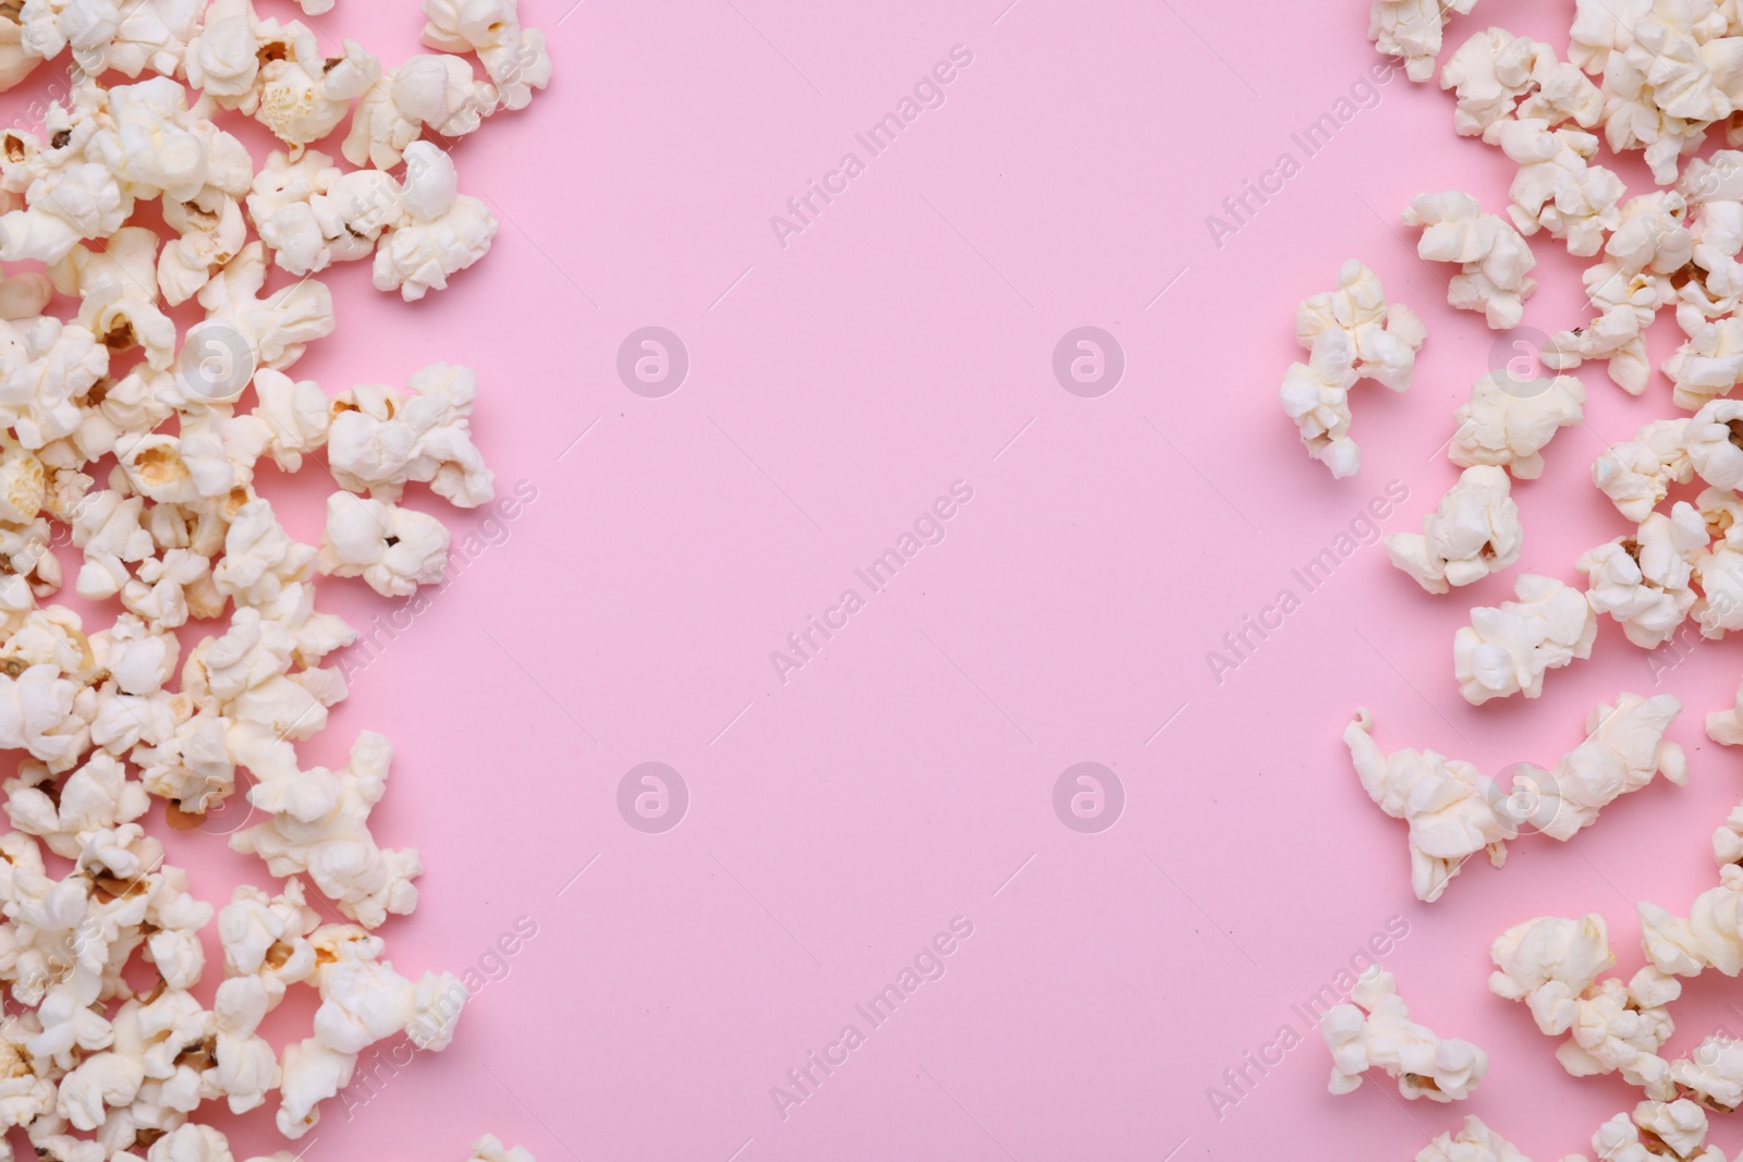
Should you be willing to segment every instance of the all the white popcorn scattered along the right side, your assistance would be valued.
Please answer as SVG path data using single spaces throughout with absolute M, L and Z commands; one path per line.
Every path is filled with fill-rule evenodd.
M 1429 80 L 1447 24 L 1469 10 L 1464 2 L 1373 0 L 1370 38 L 1401 57 L 1412 80 Z M 1421 228 L 1417 256 L 1457 267 L 1448 303 L 1497 331 L 1518 328 L 1537 289 L 1529 240 L 1548 233 L 1590 260 L 1591 314 L 1583 308 L 1581 322 L 1550 338 L 1548 375 L 1527 378 L 1509 364 L 1473 385 L 1447 444 L 1464 472 L 1421 533 L 1386 537 L 1391 563 L 1428 594 L 1447 594 L 1520 559 L 1515 483 L 1539 477 L 1555 434 L 1584 422 L 1586 387 L 1570 375 L 1581 366 L 1602 362 L 1631 395 L 1647 394 L 1656 371 L 1682 413 L 1637 422 L 1631 439 L 1593 462 L 1593 484 L 1623 528 L 1572 563 L 1583 584 L 1520 573 L 1515 601 L 1471 610 L 1452 648 L 1461 695 L 1471 706 L 1539 697 L 1548 671 L 1593 653 L 1604 617 L 1638 650 L 1743 631 L 1743 150 L 1734 148 L 1743 146 L 1743 14 L 1717 0 L 1576 0 L 1565 51 L 1485 28 L 1445 56 L 1440 87 L 1452 94 L 1454 131 L 1513 164 L 1504 213 L 1459 190 L 1421 193 L 1403 209 L 1403 223 Z M 1733 148 L 1703 148 L 1713 129 Z M 1656 188 L 1631 193 L 1600 160 L 1605 148 L 1638 150 Z M 1387 319 L 1396 305 L 1386 305 L 1367 267 L 1346 263 L 1340 286 L 1365 289 L 1304 305 L 1297 331 L 1312 357 L 1290 369 L 1283 388 L 1309 453 L 1333 476 L 1360 467 L 1347 439 L 1349 387 L 1367 366 L 1393 371 L 1372 378 L 1405 387 L 1398 373 L 1424 340 L 1414 315 L 1405 326 Z M 1680 338 L 1654 364 L 1647 336 L 1666 308 Z M 1384 357 L 1382 336 L 1394 331 L 1408 361 L 1398 347 Z M 1344 742 L 1368 796 L 1408 824 L 1412 888 L 1434 901 L 1478 852 L 1499 866 L 1527 829 L 1569 840 L 1658 775 L 1682 784 L 1687 756 L 1668 737 L 1680 711 L 1670 695 L 1623 693 L 1591 711 L 1584 740 L 1551 768 L 1509 768 L 1509 786 L 1434 751 L 1382 753 L 1368 711 L 1358 711 Z M 1743 746 L 1743 688 L 1705 725 L 1712 740 Z M 1598 1159 L 1724 1162 L 1705 1141 L 1706 1111 L 1743 1108 L 1743 1044 L 1715 1035 L 1680 1057 L 1665 1047 L 1684 979 L 1743 974 L 1743 805 L 1713 833 L 1713 855 L 1719 883 L 1685 913 L 1638 904 L 1645 965 L 1628 979 L 1611 974 L 1616 956 L 1597 913 L 1525 920 L 1490 948 L 1490 991 L 1525 1003 L 1570 1075 L 1618 1075 L 1644 1092 L 1591 1138 Z M 1351 1000 L 1325 1021 L 1333 1091 L 1380 1064 L 1407 1096 L 1457 1099 L 1476 1080 L 1461 1068 L 1487 1064 L 1475 1047 L 1443 1059 L 1447 1042 L 1408 1023 L 1384 974 L 1360 983 Z M 1475 1117 L 1419 1155 L 1448 1159 L 1525 1162 Z

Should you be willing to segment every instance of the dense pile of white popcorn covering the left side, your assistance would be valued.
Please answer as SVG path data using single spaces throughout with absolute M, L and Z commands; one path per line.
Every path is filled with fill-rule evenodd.
M 200 1122 L 220 1101 L 275 1103 L 302 1138 L 364 1049 L 441 1051 L 467 996 L 401 974 L 373 934 L 417 906 L 424 869 L 371 833 L 392 746 L 363 732 L 338 770 L 296 754 L 347 697 L 329 662 L 357 638 L 315 608 L 317 578 L 437 584 L 450 535 L 406 488 L 493 497 L 472 371 L 336 395 L 288 375 L 336 326 L 310 275 L 370 258 L 411 301 L 495 237 L 429 134 L 525 108 L 551 78 L 544 37 L 516 0 L 425 0 L 424 19 L 431 52 L 385 68 L 251 0 L 0 3 L 0 89 L 71 59 L 42 132 L 0 132 L 0 263 L 38 267 L 0 274 L 0 747 L 24 754 L 0 786 L 0 983 L 21 1007 L 0 1023 L 0 1129 L 47 1162 L 230 1162 Z M 281 143 L 263 166 L 223 127 L 241 117 Z M 345 164 L 310 148 L 347 118 Z M 181 305 L 200 315 L 185 331 Z M 326 460 L 319 545 L 256 491 L 261 458 Z M 78 554 L 73 592 L 115 603 L 108 624 L 51 601 L 58 545 Z M 272 880 L 214 908 L 167 862 L 153 800 L 195 828 L 237 794 L 256 821 L 230 845 Z M 319 1007 L 277 1054 L 258 1030 L 293 986 Z M 472 1157 L 532 1162 L 488 1136 Z

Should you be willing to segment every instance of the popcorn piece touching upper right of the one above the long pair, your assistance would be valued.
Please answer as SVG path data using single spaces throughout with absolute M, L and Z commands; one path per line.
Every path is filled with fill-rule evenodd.
M 1685 500 L 1670 516 L 1649 512 L 1633 537 L 1591 549 L 1574 564 L 1586 575 L 1586 599 L 1614 617 L 1628 641 L 1656 650 L 1694 608 L 1694 566 L 1706 551 L 1706 519 Z

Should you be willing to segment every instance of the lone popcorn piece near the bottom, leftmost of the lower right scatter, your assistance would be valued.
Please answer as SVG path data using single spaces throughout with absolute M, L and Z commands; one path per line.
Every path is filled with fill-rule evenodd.
M 1319 1017 L 1319 1033 L 1332 1051 L 1332 1092 L 1347 1094 L 1368 1070 L 1398 1078 L 1405 1098 L 1462 1101 L 1489 1071 L 1489 1054 L 1471 1042 L 1440 1038 L 1410 1019 L 1391 972 L 1370 969 L 1356 981 L 1349 1003 Z

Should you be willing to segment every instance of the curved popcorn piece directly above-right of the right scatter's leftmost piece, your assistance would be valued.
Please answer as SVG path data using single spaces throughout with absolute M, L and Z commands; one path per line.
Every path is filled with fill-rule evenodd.
M 1417 254 L 1428 261 L 1459 263 L 1447 301 L 1459 310 L 1480 310 L 1490 328 L 1520 324 L 1525 300 L 1537 289 L 1530 277 L 1537 260 L 1506 218 L 1485 214 L 1469 193 L 1419 193 L 1403 214 L 1407 226 L 1422 226 Z

